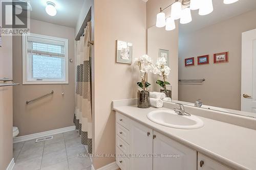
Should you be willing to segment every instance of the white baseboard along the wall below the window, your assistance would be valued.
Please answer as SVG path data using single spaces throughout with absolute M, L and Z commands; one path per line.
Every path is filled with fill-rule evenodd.
M 30 135 L 25 135 L 25 136 L 18 136 L 18 137 L 13 138 L 13 143 L 32 140 L 32 139 L 36 139 L 39 137 L 55 135 L 58 133 L 73 131 L 75 129 L 76 129 L 75 126 L 70 126 L 70 127 L 55 129 L 55 130 L 46 131 L 46 132 L 39 132 L 39 133 L 34 133 L 34 134 L 30 134 Z

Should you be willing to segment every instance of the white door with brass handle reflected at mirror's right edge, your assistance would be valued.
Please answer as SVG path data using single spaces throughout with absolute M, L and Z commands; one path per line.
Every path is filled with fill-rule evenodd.
M 256 29 L 242 33 L 241 110 L 256 113 Z

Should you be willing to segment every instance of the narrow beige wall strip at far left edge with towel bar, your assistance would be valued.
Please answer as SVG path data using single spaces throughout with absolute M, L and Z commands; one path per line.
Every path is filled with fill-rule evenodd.
M 0 59 L 0 78 L 12 78 L 12 36 L 2 37 Z M 12 86 L 0 87 L 0 169 L 12 160 L 12 111 Z

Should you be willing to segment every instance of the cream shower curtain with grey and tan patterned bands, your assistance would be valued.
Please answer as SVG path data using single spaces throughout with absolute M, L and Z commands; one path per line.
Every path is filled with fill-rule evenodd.
M 84 36 L 77 41 L 76 110 L 74 124 L 81 135 L 81 143 L 88 145 L 92 154 L 92 105 L 91 105 L 91 22 L 84 29 Z

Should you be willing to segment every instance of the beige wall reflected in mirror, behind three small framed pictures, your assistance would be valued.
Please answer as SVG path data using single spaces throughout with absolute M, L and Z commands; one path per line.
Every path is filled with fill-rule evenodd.
M 250 18 L 249 21 L 248 18 Z M 242 32 L 256 28 L 256 10 L 179 37 L 179 78 L 202 79 L 200 85 L 179 84 L 179 100 L 240 110 Z M 213 54 L 229 51 L 229 62 L 214 64 Z M 197 56 L 210 55 L 209 65 L 197 65 Z M 195 57 L 196 66 L 184 67 Z

